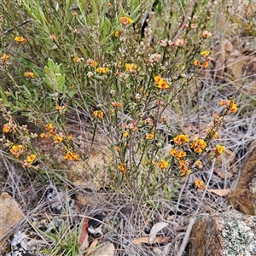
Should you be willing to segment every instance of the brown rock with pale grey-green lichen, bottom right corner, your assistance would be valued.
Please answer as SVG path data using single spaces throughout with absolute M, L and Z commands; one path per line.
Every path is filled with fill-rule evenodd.
M 256 255 L 256 217 L 236 210 L 194 224 L 189 256 Z

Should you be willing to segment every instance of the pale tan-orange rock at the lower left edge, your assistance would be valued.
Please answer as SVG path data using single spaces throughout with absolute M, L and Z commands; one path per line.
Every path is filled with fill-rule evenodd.
M 23 218 L 19 204 L 8 193 L 3 192 L 0 195 L 0 254 L 13 231 L 12 228 Z

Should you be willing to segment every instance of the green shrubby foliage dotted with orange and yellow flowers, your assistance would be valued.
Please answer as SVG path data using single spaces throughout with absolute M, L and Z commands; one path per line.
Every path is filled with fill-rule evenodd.
M 189 151 L 183 157 L 164 149 L 166 136 L 185 133 L 181 124 L 168 120 L 168 110 L 183 115 L 182 101 L 190 102 L 187 92 L 195 90 L 196 77 L 212 60 L 215 44 L 209 31 L 214 10 L 207 2 L 3 1 L 1 52 L 9 55 L 1 59 L 5 132 L 12 132 L 28 150 L 25 131 L 19 131 L 25 128 L 16 119 L 25 115 L 65 160 L 86 163 L 90 157 L 84 148 L 92 152 L 96 138 L 105 136 L 112 154 L 109 186 L 119 189 L 125 182 L 133 196 L 148 198 L 165 191 L 170 197 L 181 176 L 200 171 L 196 160 L 207 152 L 224 117 L 236 112 L 233 98 L 223 103 L 219 120 L 214 119 L 208 135 L 201 138 L 206 146 L 195 146 L 189 137 L 172 147 L 178 153 Z M 141 20 L 147 11 L 142 37 Z M 71 115 L 90 133 L 89 146 L 84 147 L 80 137 L 68 138 Z M 15 146 L 6 137 L 3 143 L 8 153 Z M 28 152 L 36 152 L 44 162 L 41 149 Z M 21 156 L 24 160 L 26 152 L 17 156 L 22 161 Z M 92 172 L 96 175 L 96 168 Z

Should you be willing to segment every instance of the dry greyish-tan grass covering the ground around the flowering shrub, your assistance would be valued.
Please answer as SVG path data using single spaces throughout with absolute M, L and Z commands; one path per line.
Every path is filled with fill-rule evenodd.
M 224 24 L 212 24 L 214 38 L 221 40 L 234 36 L 229 34 L 229 32 L 233 33 L 229 27 L 234 25 L 230 21 L 234 15 L 231 11 L 230 14 L 225 15 L 227 16 L 226 19 L 223 19 L 226 20 Z M 213 23 L 217 22 L 215 19 L 213 16 Z M 218 30 L 219 27 L 221 30 Z M 236 33 L 236 36 L 240 37 L 243 32 Z M 214 38 L 212 38 L 213 43 L 216 41 Z M 136 57 L 134 57 L 134 61 L 136 61 Z M 143 183 L 143 172 L 148 171 L 147 169 L 137 172 L 134 176 L 131 175 L 130 179 L 128 177 L 125 179 L 120 174 L 118 177 L 114 177 L 112 173 L 110 177 L 105 176 L 106 180 L 101 176 L 103 183 L 107 185 L 96 191 L 96 189 L 88 189 L 88 187 L 84 189 L 68 180 L 65 174 L 70 172 L 71 167 L 63 165 L 63 162 L 42 161 L 40 164 L 43 163 L 44 166 L 39 172 L 32 169 L 24 171 L 20 167 L 20 163 L 15 162 L 8 152 L 4 149 L 1 150 L 0 192 L 9 192 L 16 201 L 20 202 L 26 218 L 16 230 L 29 234 L 28 244 L 31 245 L 34 255 L 64 255 L 63 253 L 77 255 L 75 254 L 77 248 L 69 246 L 78 241 L 77 229 L 81 218 L 90 219 L 101 212 L 107 212 L 107 217 L 102 221 L 104 235 L 100 236 L 99 241 L 101 243 L 111 241 L 116 248 L 116 256 L 158 255 L 157 248 L 166 252 L 166 256 L 188 255 L 187 249 L 183 250 L 183 247 L 187 245 L 189 222 L 191 224 L 195 218 L 201 218 L 212 212 L 223 212 L 230 207 L 225 196 L 215 195 L 207 189 L 232 189 L 235 187 L 243 163 L 249 154 L 249 144 L 255 140 L 255 94 L 248 92 L 247 78 L 243 78 L 242 81 L 240 79 L 230 80 L 230 77 L 225 78 L 225 76 L 216 78 L 214 73 L 216 74 L 217 71 L 214 71 L 214 68 L 212 66 L 193 79 L 183 90 L 183 94 L 178 95 L 177 100 L 165 110 L 165 114 L 168 116 L 168 125 L 172 127 L 174 134 L 182 132 L 188 134 L 189 137 L 202 137 L 212 122 L 212 113 L 222 112 L 223 108 L 219 105 L 219 101 L 230 96 L 236 97 L 237 113 L 227 116 L 224 125 L 218 131 L 218 138 L 207 148 L 207 152 L 211 152 L 217 143 L 224 145 L 228 153 L 218 160 L 208 162 L 207 154 L 204 154 L 202 160 L 207 162 L 207 165 L 201 172 L 195 172 L 188 177 L 172 177 L 166 178 L 166 180 L 165 178 L 160 180 L 156 173 L 154 177 L 148 177 L 146 184 L 149 190 L 147 191 L 139 187 Z M 255 86 L 253 84 L 250 88 Z M 254 88 L 253 90 L 256 91 Z M 96 92 L 99 91 L 96 90 Z M 100 93 L 104 95 L 105 91 Z M 101 102 L 105 108 L 109 102 L 102 102 L 102 95 L 96 94 L 92 98 L 97 103 Z M 83 96 L 84 92 L 82 91 L 80 97 Z M 77 137 L 81 135 L 83 143 L 87 143 L 86 147 L 90 148 L 90 143 L 94 142 L 92 131 L 95 123 L 91 115 L 92 107 L 88 107 L 87 103 L 79 102 L 79 105 L 74 104 L 69 107 L 72 114 L 67 117 L 67 123 L 72 123 L 72 126 L 66 128 L 69 131 L 76 131 Z M 108 140 L 102 142 L 99 139 L 99 143 L 95 146 L 96 152 L 107 152 L 108 145 L 113 146 L 114 140 L 118 137 L 118 131 L 113 131 L 111 126 L 113 124 L 111 124 L 110 114 L 106 116 L 106 119 L 108 118 L 109 120 L 105 124 L 97 128 L 101 137 L 108 137 Z M 131 120 L 130 113 L 119 113 L 119 125 L 127 119 Z M 160 124 L 158 128 L 161 130 L 161 134 L 169 136 L 169 138 L 172 137 L 173 134 L 165 125 Z M 85 149 L 88 148 L 86 147 Z M 171 147 L 172 140 L 162 143 L 159 150 L 160 156 L 166 156 Z M 95 160 L 93 156 L 91 157 L 92 160 Z M 100 158 L 101 156 L 96 160 L 100 161 Z M 115 159 L 109 168 L 117 167 L 118 164 L 118 160 Z M 106 170 L 104 173 L 108 172 L 108 168 Z M 99 172 L 96 169 L 88 167 L 86 172 L 90 177 L 99 179 L 97 176 Z M 112 178 L 116 183 L 108 182 Z M 142 178 L 141 183 L 138 182 L 139 178 Z M 151 196 L 148 192 L 150 191 L 150 182 L 157 184 L 158 178 L 163 186 L 156 185 L 157 190 Z M 201 178 L 207 184 L 207 189 L 197 191 L 194 185 L 196 178 Z M 102 180 L 98 182 L 102 183 Z M 51 200 L 46 196 L 49 188 L 51 191 L 55 191 L 55 196 Z M 148 194 L 145 192 L 146 196 L 144 196 L 142 191 L 146 191 Z M 72 195 L 77 195 L 77 197 Z M 81 200 L 78 201 L 78 195 L 83 195 L 85 199 L 83 203 Z M 60 207 L 61 213 L 55 212 L 55 207 Z M 61 219 L 63 223 L 60 226 L 55 226 L 54 231 L 46 231 L 53 224 L 54 219 L 59 221 Z M 132 243 L 137 237 L 148 236 L 152 226 L 158 222 L 168 223 L 168 226 L 158 235 L 170 237 L 170 242 L 153 246 Z M 186 238 L 184 239 L 184 237 Z M 90 236 L 90 241 L 94 239 L 94 236 Z M 67 246 L 68 244 L 69 246 Z M 49 249 L 49 251 L 42 253 L 43 249 Z M 68 249 L 70 249 L 69 253 L 67 253 Z

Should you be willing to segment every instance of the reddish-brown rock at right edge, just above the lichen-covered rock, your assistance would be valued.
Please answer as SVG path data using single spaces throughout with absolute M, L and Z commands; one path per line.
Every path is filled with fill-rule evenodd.
M 228 195 L 228 201 L 237 211 L 256 215 L 256 147 L 241 169 L 236 188 Z

